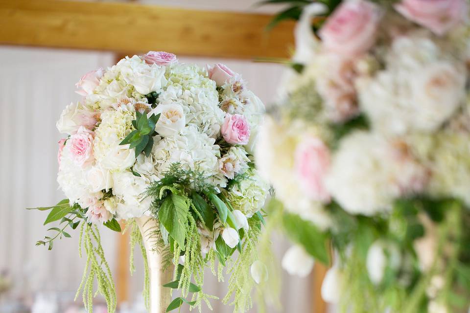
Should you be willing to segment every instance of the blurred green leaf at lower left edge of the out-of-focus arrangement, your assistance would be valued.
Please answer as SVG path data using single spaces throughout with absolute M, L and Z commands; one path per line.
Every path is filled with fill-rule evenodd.
M 328 238 L 315 224 L 296 214 L 284 213 L 284 228 L 289 238 L 304 246 L 305 251 L 323 264 L 329 265 Z

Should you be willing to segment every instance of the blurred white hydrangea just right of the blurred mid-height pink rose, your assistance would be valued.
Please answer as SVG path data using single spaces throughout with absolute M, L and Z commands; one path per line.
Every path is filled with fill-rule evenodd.
M 329 193 L 351 214 L 391 209 L 396 198 L 423 190 L 424 168 L 384 137 L 355 132 L 342 140 L 326 178 Z

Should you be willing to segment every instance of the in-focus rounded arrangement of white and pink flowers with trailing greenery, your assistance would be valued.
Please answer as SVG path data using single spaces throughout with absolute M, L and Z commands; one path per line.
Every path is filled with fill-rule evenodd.
M 154 249 L 165 266 L 175 266 L 174 281 L 164 287 L 183 294 L 166 312 L 184 302 L 199 311 L 202 301 L 211 307 L 214 297 L 202 291 L 206 266 L 219 280 L 228 267 L 231 286 L 224 301 L 235 295 L 235 311 L 244 312 L 255 283 L 250 267 L 255 264 L 255 278 L 260 268 L 253 249 L 268 193 L 251 155 L 262 102 L 225 65 L 185 65 L 166 52 L 126 57 L 85 74 L 76 86 L 83 99 L 71 103 L 57 122 L 67 135 L 59 141 L 57 177 L 67 199 L 38 208 L 50 210 L 45 224 L 60 225 L 37 244 L 51 249 L 55 239 L 71 237 L 68 229 L 78 229 L 80 249 L 88 255 L 79 288 L 85 307 L 92 312 L 96 279 L 108 312 L 115 312 L 99 226 L 120 232 L 123 220 L 131 246 L 141 246 L 146 260 L 147 238 L 136 220 L 147 216 L 157 222 L 148 233 Z M 239 254 L 232 260 L 235 250 Z M 146 277 L 147 302 L 148 288 Z M 192 298 L 186 299 L 189 292 Z

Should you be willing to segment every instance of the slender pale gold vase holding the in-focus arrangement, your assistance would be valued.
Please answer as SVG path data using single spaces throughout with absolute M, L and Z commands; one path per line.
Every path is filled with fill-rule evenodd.
M 158 227 L 157 221 L 148 216 L 136 219 L 142 234 L 142 241 L 147 253 L 149 280 L 150 280 L 150 311 L 149 313 L 164 313 L 171 301 L 170 288 L 163 285 L 170 282 L 173 267 L 163 270 L 162 256 L 155 251 L 156 240 L 152 235 L 153 230 Z

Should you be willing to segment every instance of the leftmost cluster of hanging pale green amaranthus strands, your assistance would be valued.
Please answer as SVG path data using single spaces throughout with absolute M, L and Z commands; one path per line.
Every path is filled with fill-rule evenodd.
M 115 313 L 117 307 L 116 288 L 111 275 L 111 269 L 106 262 L 99 231 L 96 226 L 82 223 L 80 226 L 80 257 L 81 247 L 85 249 L 87 261 L 83 271 L 82 281 L 75 294 L 75 300 L 82 291 L 83 303 L 87 312 L 93 312 L 93 298 L 97 293 L 103 295 L 108 307 L 108 313 Z M 94 281 L 97 289 L 94 291 Z

